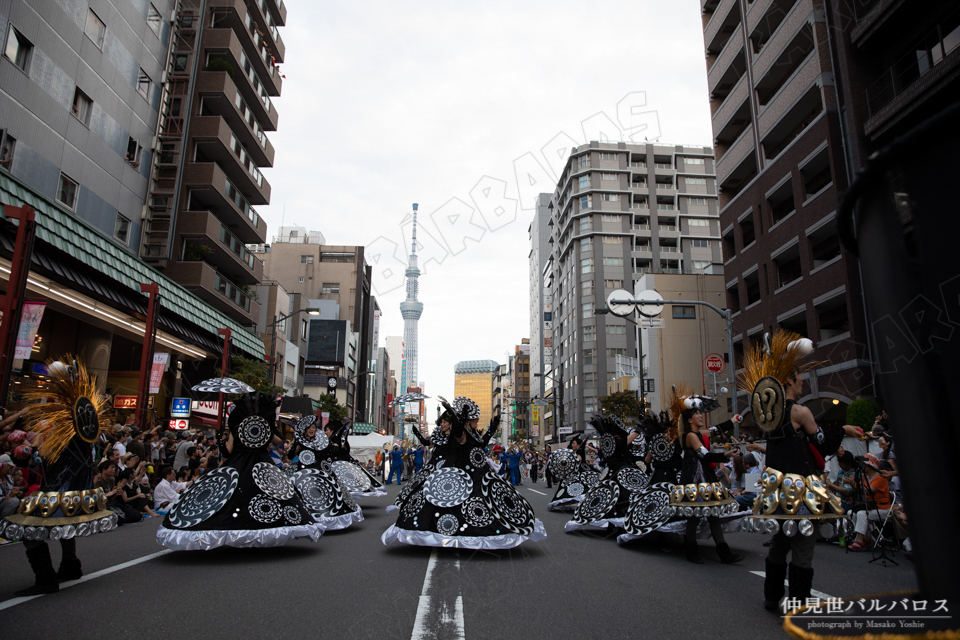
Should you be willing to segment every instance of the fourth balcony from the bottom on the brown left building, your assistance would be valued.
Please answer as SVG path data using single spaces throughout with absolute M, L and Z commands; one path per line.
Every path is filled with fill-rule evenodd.
M 231 182 L 252 204 L 270 202 L 270 183 L 253 161 L 246 147 L 219 116 L 197 116 L 190 123 L 196 145 L 196 162 L 216 162 Z M 258 147 L 257 147 L 258 148 Z

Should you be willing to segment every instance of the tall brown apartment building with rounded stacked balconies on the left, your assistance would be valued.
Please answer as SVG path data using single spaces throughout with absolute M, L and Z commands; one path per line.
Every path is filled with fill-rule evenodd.
M 246 245 L 267 237 L 254 206 L 270 202 L 285 21 L 277 0 L 181 0 L 162 76 L 148 79 L 164 82 L 140 255 L 250 325 L 263 264 Z

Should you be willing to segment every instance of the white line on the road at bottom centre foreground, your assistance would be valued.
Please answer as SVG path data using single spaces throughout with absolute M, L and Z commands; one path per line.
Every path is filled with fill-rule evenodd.
M 434 549 L 427 564 L 427 574 L 423 577 L 423 589 L 420 591 L 420 602 L 417 604 L 417 619 L 413 623 L 411 640 L 465 640 L 463 630 L 463 596 L 460 594 L 460 560 L 452 563 L 442 562 L 439 558 L 440 550 Z M 455 570 L 453 579 L 456 581 L 456 598 L 453 592 L 447 589 L 444 593 L 443 582 L 445 568 Z

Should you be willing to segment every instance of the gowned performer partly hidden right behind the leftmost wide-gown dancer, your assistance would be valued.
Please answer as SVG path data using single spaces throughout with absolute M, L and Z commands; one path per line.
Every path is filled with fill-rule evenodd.
M 360 506 L 323 459 L 330 441 L 317 429 L 317 416 L 303 417 L 294 425 L 293 433 L 290 458 L 297 460 L 299 468 L 291 480 L 303 506 L 325 531 L 345 529 L 354 522 L 362 522 Z

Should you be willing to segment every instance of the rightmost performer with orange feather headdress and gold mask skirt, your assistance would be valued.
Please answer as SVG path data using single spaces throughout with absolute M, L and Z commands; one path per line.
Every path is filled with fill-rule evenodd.
M 790 331 L 764 336 L 744 357 L 740 389 L 750 393 L 757 425 L 766 433 L 766 468 L 762 493 L 754 503 L 748 530 L 774 533 L 763 583 L 764 607 L 778 611 L 784 596 L 790 555 L 790 598 L 805 602 L 813 588 L 813 551 L 826 520 L 843 514 L 840 499 L 819 477 L 823 458 L 837 451 L 844 434 L 859 427 L 819 427 L 803 397 L 803 374 L 817 363 L 803 363 L 813 343 Z M 782 523 L 782 526 L 781 526 Z M 828 528 L 832 528 L 832 525 Z M 832 533 L 832 532 L 831 532 Z

